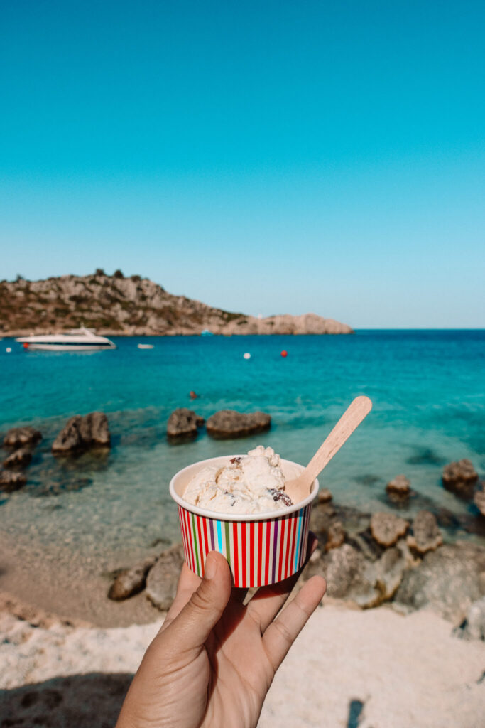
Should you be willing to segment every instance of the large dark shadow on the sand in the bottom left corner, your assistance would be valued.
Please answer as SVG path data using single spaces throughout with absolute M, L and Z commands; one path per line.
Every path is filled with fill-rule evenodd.
M 132 677 L 89 673 L 0 690 L 0 728 L 113 728 Z

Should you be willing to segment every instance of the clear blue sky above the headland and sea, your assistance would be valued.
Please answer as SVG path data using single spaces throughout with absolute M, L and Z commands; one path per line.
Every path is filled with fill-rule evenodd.
M 0 0 L 0 278 L 485 327 L 485 4 Z

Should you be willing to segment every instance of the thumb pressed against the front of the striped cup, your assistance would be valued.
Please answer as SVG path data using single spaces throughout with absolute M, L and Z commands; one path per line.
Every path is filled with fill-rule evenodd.
M 222 554 L 207 554 L 204 579 L 169 630 L 180 650 L 201 647 L 223 614 L 231 596 L 231 571 Z M 168 630 L 167 630 L 168 631 Z

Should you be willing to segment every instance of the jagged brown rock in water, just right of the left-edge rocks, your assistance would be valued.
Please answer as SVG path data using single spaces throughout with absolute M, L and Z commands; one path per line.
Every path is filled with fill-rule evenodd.
M 70 454 L 93 447 L 109 447 L 111 437 L 104 412 L 76 414 L 68 420 L 52 444 L 54 454 Z

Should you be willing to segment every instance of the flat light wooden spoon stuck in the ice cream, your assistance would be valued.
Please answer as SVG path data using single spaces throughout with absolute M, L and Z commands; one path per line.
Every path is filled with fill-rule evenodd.
M 369 397 L 356 397 L 353 403 L 345 410 L 340 420 L 324 443 L 318 448 L 313 458 L 297 478 L 286 480 L 284 489 L 294 503 L 299 503 L 310 495 L 310 487 L 313 480 L 320 475 L 326 464 L 332 460 L 334 454 L 340 450 L 345 440 L 350 438 L 352 432 L 361 424 L 372 410 L 372 402 Z

